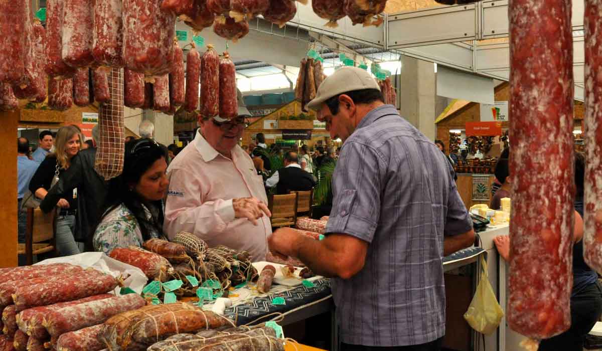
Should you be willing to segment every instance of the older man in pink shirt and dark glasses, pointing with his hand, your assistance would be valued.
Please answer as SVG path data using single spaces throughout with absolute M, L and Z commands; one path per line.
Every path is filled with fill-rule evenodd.
M 261 176 L 238 146 L 249 110 L 238 92 L 238 117 L 200 119 L 194 140 L 169 165 L 164 232 L 191 232 L 209 246 L 265 259 L 272 225 Z

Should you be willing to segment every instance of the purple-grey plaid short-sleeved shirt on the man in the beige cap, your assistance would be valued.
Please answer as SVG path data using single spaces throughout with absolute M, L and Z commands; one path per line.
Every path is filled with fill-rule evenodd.
M 472 228 L 445 155 L 383 105 L 345 141 L 332 179 L 326 232 L 369 244 L 364 269 L 332 279 L 341 341 L 406 346 L 442 337 L 443 237 Z

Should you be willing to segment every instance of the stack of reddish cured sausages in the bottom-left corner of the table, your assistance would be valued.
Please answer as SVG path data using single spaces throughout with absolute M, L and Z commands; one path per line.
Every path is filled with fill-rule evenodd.
M 0 269 L 0 281 L 2 350 L 101 350 L 99 325 L 146 304 L 137 294 L 109 294 L 113 276 L 71 264 Z

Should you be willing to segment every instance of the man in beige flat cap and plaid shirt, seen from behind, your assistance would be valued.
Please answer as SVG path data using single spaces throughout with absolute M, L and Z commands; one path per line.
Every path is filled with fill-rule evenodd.
M 278 229 L 270 250 L 333 278 L 343 350 L 439 350 L 442 258 L 474 243 L 452 167 L 365 70 L 338 69 L 308 107 L 344 140 L 326 238 Z

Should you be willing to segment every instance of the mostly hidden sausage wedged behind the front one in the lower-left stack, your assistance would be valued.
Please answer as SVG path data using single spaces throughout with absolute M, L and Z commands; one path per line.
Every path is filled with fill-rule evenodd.
M 28 308 L 17 314 L 17 326 L 19 326 L 20 331 L 25 332 L 25 334 L 29 335 L 30 337 L 34 337 L 39 340 L 46 340 L 50 338 L 48 331 L 46 331 L 46 328 L 43 326 L 44 317 L 46 315 L 48 315 L 52 311 L 56 311 L 57 309 L 61 309 L 67 306 L 78 305 L 79 303 L 84 302 L 108 299 L 109 297 L 114 297 L 114 295 L 100 294 L 90 297 L 84 297 L 84 299 L 74 301 L 59 302 L 55 303 L 54 305 Z

